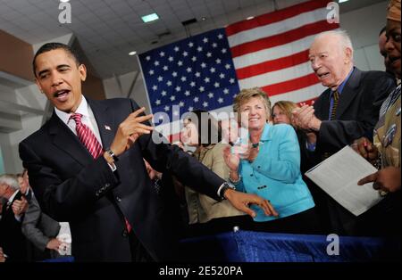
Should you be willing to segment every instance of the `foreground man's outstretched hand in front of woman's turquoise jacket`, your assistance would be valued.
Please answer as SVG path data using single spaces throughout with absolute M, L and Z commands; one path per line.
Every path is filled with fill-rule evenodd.
M 278 217 L 279 214 L 273 209 L 271 203 L 258 195 L 240 193 L 235 190 L 228 189 L 224 196 L 236 209 L 243 211 L 255 218 L 255 211 L 251 210 L 248 205 L 256 204 L 264 210 L 265 215 Z

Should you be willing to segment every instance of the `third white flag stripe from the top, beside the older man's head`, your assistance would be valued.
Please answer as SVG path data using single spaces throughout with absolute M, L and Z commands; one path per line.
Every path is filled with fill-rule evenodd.
M 289 68 L 267 72 L 251 78 L 239 79 L 240 88 L 251 88 L 254 86 L 268 86 L 288 81 L 289 79 L 299 78 L 313 73 L 310 62 L 298 64 Z

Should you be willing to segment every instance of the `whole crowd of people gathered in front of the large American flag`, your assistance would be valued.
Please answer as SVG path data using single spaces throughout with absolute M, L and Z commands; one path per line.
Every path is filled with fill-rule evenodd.
M 59 221 L 70 224 L 77 261 L 185 260 L 181 238 L 235 226 L 400 236 L 400 32 L 392 0 L 379 37 L 386 71 L 357 69 L 348 34 L 322 32 L 309 60 L 327 89 L 313 104 L 272 105 L 261 88 L 243 89 L 235 119 L 189 113 L 180 145 L 156 144 L 153 116 L 130 99 L 84 97 L 78 56 L 43 45 L 33 69 L 54 114 L 21 142 L 21 176 L 0 177 L 0 262 L 56 258 Z M 358 185 L 373 182 L 384 197 L 359 216 L 305 176 L 346 145 L 378 169 Z

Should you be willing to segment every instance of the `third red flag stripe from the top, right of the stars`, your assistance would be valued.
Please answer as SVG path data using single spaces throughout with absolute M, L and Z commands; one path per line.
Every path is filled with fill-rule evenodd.
M 236 70 L 236 75 L 239 79 L 250 78 L 267 72 L 296 66 L 304 62 L 308 62 L 308 50 L 302 51 L 297 54 L 284 56 L 272 61 L 261 62 L 251 66 L 239 68 L 238 70 Z

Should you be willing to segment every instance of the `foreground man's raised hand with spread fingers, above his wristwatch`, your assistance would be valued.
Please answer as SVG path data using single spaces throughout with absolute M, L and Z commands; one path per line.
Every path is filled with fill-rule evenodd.
M 124 119 L 119 125 L 113 143 L 110 146 L 110 149 L 116 156 L 127 151 L 130 146 L 137 141 L 139 136 L 150 134 L 154 129 L 153 127 L 142 124 L 142 122 L 152 119 L 152 114 L 138 117 L 138 115 L 144 111 L 145 108 L 142 107 L 130 113 L 129 117 Z

